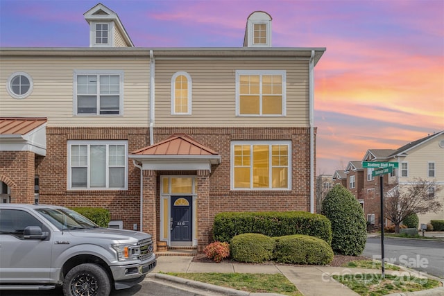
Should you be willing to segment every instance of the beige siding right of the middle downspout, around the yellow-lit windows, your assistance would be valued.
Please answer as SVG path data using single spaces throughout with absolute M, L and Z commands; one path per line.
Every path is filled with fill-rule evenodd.
M 236 116 L 237 70 L 287 71 L 287 116 Z M 191 115 L 171 115 L 171 77 L 192 80 Z M 309 125 L 308 62 L 296 60 L 156 60 L 155 126 Z

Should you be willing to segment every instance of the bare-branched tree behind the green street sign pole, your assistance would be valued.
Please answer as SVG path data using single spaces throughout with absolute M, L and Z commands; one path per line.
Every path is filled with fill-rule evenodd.
M 384 215 L 395 225 L 395 233 L 400 233 L 400 223 L 411 214 L 437 213 L 443 205 L 436 200 L 436 193 L 443 186 L 434 181 L 415 178 L 406 185 L 394 184 L 384 193 Z

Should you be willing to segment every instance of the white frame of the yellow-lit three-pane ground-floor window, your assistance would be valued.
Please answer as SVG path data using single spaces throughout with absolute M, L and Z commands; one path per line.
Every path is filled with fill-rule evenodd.
M 270 150 L 271 151 L 271 146 L 273 145 L 287 145 L 288 146 L 288 171 L 287 171 L 287 176 L 288 176 L 288 180 L 287 180 L 287 188 L 271 188 L 272 184 L 271 184 L 271 172 L 272 172 L 272 168 L 273 166 L 271 165 L 271 158 L 272 158 L 272 153 L 270 153 L 268 155 L 269 157 L 269 168 L 268 168 L 268 180 L 269 180 L 269 186 L 268 188 L 254 188 L 253 187 L 253 170 L 250 170 L 250 188 L 234 188 L 234 146 L 235 145 L 249 145 L 250 146 L 250 151 L 252 151 L 251 149 L 253 149 L 253 146 L 255 145 L 268 145 L 270 146 Z M 291 158 L 291 153 L 292 153 L 292 147 L 291 147 L 291 141 L 286 141 L 286 140 L 278 140 L 278 141 L 231 141 L 230 143 L 230 190 L 232 191 L 288 191 L 291 190 L 291 175 L 292 175 L 292 171 L 291 168 L 293 168 L 293 161 Z M 250 153 L 250 167 L 253 166 L 253 152 Z

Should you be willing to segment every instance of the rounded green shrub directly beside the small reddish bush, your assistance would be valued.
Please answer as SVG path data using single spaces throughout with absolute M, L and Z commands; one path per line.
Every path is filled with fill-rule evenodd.
M 232 259 L 247 263 L 272 259 L 274 248 L 275 239 L 264 234 L 239 234 L 230 241 Z

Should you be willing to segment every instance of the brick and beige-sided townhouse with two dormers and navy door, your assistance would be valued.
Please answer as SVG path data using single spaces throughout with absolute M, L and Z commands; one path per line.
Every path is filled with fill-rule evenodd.
M 223 211 L 316 211 L 314 66 L 253 12 L 241 48 L 137 48 L 85 12 L 89 48 L 1 48 L 2 202 L 103 207 L 168 245 Z

